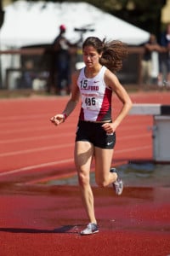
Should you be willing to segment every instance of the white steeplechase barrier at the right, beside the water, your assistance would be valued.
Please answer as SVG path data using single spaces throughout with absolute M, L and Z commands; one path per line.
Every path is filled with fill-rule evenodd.
M 152 115 L 153 160 L 170 162 L 170 105 L 141 103 L 133 104 L 129 115 Z

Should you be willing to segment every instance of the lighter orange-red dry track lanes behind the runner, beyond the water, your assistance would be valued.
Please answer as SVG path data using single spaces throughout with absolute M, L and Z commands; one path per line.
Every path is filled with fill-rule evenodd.
M 135 103 L 169 104 L 170 93 L 138 93 L 132 94 L 132 99 Z M 37 180 L 75 172 L 73 147 L 80 106 L 65 124 L 54 127 L 49 122 L 54 113 L 62 111 L 67 100 L 67 96 L 1 100 L 0 178 L 33 172 Z M 113 97 L 115 115 L 120 108 Z M 151 116 L 128 116 L 122 122 L 117 129 L 113 165 L 127 160 L 151 160 L 152 121 Z

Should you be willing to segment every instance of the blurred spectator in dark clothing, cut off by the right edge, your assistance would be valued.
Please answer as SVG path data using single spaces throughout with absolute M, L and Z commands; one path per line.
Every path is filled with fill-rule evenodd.
M 167 24 L 166 31 L 161 34 L 161 54 L 160 73 L 158 75 L 158 85 L 166 85 L 170 88 L 170 23 Z

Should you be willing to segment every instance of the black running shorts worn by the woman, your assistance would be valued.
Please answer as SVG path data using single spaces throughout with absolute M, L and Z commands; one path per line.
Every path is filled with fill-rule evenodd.
M 80 120 L 77 125 L 76 142 L 89 142 L 98 148 L 114 148 L 116 144 L 116 133 L 107 134 L 102 125 L 103 123 Z

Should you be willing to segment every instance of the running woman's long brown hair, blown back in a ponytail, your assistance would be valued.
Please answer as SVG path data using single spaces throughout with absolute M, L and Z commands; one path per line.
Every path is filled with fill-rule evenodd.
M 122 69 L 122 60 L 127 57 L 127 44 L 119 40 L 101 41 L 96 37 L 87 38 L 82 44 L 82 49 L 86 46 L 93 46 L 99 54 L 102 54 L 99 63 L 111 72 L 115 73 Z

